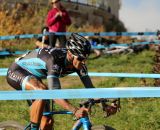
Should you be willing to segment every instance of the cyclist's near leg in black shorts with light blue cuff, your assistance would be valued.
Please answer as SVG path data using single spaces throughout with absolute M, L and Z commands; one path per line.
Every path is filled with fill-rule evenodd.
M 13 64 L 8 70 L 7 81 L 16 90 L 47 89 L 47 87 L 41 82 L 41 80 L 32 76 L 30 73 L 18 67 L 16 64 Z M 32 103 L 30 121 L 33 124 L 36 124 L 37 127 L 38 124 L 40 124 L 44 106 L 44 100 L 35 100 Z

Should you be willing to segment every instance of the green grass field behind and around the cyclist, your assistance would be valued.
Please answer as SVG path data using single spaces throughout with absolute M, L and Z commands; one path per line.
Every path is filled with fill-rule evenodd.
M 122 73 L 152 73 L 155 52 L 143 51 L 138 54 L 102 56 L 99 59 L 89 60 L 89 72 L 122 72 Z M 15 57 L 0 59 L 1 67 L 8 67 Z M 139 78 L 92 77 L 97 88 L 101 87 L 141 87 L 153 86 L 154 79 L 145 79 L 144 84 Z M 63 88 L 82 88 L 78 77 L 61 79 Z M 1 90 L 10 89 L 5 77 L 0 77 L 3 86 Z M 78 105 L 80 100 L 71 100 Z M 60 107 L 56 106 L 56 109 Z M 92 110 L 93 124 L 106 124 L 117 130 L 160 130 L 160 99 L 159 98 L 125 98 L 121 99 L 121 112 L 108 118 L 99 106 Z M 22 124 L 29 121 L 29 108 L 25 101 L 0 101 L 0 121 L 16 120 Z M 73 125 L 70 115 L 55 116 L 55 130 L 69 130 Z

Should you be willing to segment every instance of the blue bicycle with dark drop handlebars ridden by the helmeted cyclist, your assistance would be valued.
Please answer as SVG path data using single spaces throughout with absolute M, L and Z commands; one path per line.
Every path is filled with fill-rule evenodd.
M 76 120 L 72 127 L 72 130 L 115 130 L 112 127 L 106 125 L 92 125 L 89 115 L 91 114 L 91 108 L 95 104 L 101 104 L 102 110 L 105 112 L 105 117 L 109 117 L 116 112 L 120 111 L 120 99 L 88 99 L 87 101 L 81 102 L 80 107 L 88 108 L 88 116 Z M 53 108 L 53 107 L 52 107 Z M 53 116 L 55 114 L 73 114 L 70 111 L 50 111 L 44 112 L 45 116 Z M 30 130 L 30 123 L 24 127 L 15 121 L 5 121 L 0 123 L 0 130 Z M 9 129 L 8 129 L 9 128 Z

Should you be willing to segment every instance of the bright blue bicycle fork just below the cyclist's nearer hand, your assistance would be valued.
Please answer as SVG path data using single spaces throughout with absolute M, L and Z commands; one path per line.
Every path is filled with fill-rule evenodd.
M 88 117 L 80 118 L 72 127 L 72 130 L 79 130 L 83 127 L 83 130 L 90 130 L 91 129 L 91 122 Z

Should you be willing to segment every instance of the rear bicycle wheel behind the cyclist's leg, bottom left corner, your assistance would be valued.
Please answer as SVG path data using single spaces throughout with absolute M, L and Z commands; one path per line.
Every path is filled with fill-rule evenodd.
M 24 126 L 16 121 L 0 122 L 0 130 L 24 130 Z

